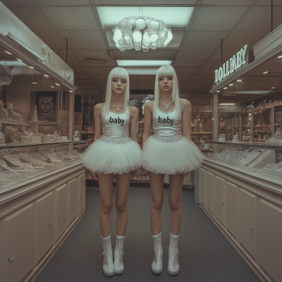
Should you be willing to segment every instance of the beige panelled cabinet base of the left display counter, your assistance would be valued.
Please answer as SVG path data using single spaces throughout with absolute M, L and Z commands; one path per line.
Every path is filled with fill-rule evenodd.
M 0 190 L 1 282 L 35 281 L 85 213 L 79 162 L 18 185 L 10 193 Z

